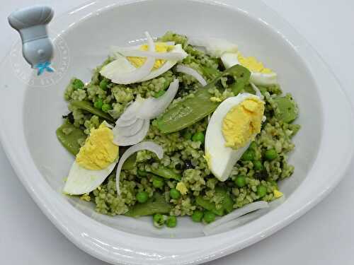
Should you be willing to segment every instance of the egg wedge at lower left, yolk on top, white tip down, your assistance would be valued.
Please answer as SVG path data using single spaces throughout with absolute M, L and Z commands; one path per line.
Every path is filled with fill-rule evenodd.
M 69 195 L 92 192 L 113 171 L 118 161 L 118 151 L 108 124 L 103 122 L 98 129 L 92 129 L 76 155 L 63 192 Z

